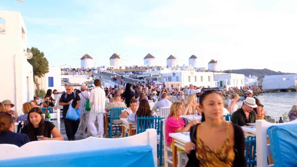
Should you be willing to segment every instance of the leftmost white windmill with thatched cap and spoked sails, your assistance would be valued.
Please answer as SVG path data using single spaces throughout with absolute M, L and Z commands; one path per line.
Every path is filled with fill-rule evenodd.
M 80 68 L 91 69 L 91 68 L 94 68 L 95 67 L 95 62 L 94 61 L 97 61 L 97 60 L 94 60 L 91 56 L 98 55 L 98 54 L 90 55 L 91 52 L 95 48 L 91 52 L 89 52 L 89 53 L 88 53 L 88 48 L 89 48 L 89 45 L 87 47 L 86 53 L 84 52 L 83 46 L 82 46 L 83 52 L 81 52 L 80 50 L 78 50 L 78 48 L 76 48 L 81 53 L 81 55 L 72 53 L 72 54 L 75 54 L 75 55 L 78 55 L 78 56 L 82 56 L 81 58 L 78 58 L 78 59 L 80 59 Z M 74 60 L 77 60 L 77 59 L 74 59 Z M 77 67 L 78 64 L 76 64 L 75 67 Z

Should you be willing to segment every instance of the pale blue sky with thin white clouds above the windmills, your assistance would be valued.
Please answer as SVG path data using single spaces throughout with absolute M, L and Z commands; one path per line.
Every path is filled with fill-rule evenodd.
M 218 70 L 297 73 L 296 0 L 0 1 L 0 10 L 21 13 L 28 47 L 50 66 L 80 67 L 86 53 L 96 67 L 109 65 L 125 51 L 123 66 L 143 65 L 148 53 L 158 65 L 170 54 L 188 65 L 194 54 L 199 67 L 217 59 Z

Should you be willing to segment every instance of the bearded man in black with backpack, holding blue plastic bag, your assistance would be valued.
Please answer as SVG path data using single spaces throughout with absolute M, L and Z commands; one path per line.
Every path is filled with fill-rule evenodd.
M 71 119 L 66 118 L 67 111 L 69 109 L 69 105 L 72 105 L 72 107 L 77 110 L 80 105 L 80 97 L 77 93 L 72 92 L 73 87 L 72 85 L 67 85 L 66 92 L 61 95 L 61 98 L 59 100 L 59 105 L 63 106 L 63 117 L 64 117 L 64 124 L 65 124 L 65 131 L 66 135 L 68 137 L 69 141 L 75 140 L 75 133 L 77 132 L 78 126 L 79 126 L 79 119 L 76 121 L 73 121 Z M 71 103 L 71 100 L 72 103 Z

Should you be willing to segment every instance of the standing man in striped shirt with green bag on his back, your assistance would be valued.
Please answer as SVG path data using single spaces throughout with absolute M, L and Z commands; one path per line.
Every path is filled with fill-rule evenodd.
M 87 127 L 88 121 L 89 121 L 89 111 L 86 111 L 86 103 L 87 100 L 90 98 L 90 92 L 86 91 L 87 87 L 85 85 L 82 85 L 80 87 L 81 93 L 78 94 L 80 97 L 80 123 L 78 125 L 78 131 L 79 131 L 79 137 L 83 137 L 83 132 Z M 86 121 L 85 121 L 86 119 Z

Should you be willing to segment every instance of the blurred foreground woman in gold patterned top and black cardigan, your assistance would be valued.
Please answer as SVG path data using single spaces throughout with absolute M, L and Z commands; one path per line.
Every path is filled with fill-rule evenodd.
M 216 91 L 206 91 L 199 99 L 201 124 L 190 129 L 191 142 L 185 145 L 187 167 L 246 167 L 244 134 L 236 124 L 221 119 L 224 102 Z

